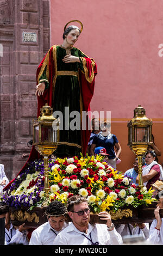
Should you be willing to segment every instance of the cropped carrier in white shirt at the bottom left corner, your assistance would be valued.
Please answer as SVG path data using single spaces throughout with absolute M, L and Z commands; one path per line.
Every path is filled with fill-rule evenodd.
M 24 227 L 24 223 L 17 229 L 10 222 L 9 208 L 5 202 L 0 202 L 0 218 L 5 218 L 5 245 L 22 244 L 28 245 L 28 237 L 26 230 L 29 227 Z

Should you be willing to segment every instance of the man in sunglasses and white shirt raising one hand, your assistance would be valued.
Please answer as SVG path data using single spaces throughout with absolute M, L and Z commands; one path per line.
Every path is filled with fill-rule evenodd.
M 72 223 L 54 239 L 54 245 L 121 245 L 122 237 L 114 228 L 108 212 L 100 212 L 106 224 L 90 224 L 90 209 L 86 198 L 72 196 L 67 203 Z

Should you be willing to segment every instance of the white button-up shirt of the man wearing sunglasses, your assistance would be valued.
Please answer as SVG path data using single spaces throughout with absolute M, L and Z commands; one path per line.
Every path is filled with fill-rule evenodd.
M 109 231 L 105 224 L 91 225 L 89 223 L 86 234 L 71 223 L 55 237 L 53 245 L 91 245 L 90 239 L 93 243 L 98 242 L 99 245 L 122 244 L 122 237 L 115 228 Z

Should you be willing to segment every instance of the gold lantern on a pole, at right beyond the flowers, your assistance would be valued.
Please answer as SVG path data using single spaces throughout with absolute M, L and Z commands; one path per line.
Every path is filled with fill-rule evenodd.
M 148 145 L 152 144 L 152 119 L 146 117 L 146 110 L 139 105 L 134 109 L 134 117 L 128 122 L 128 145 L 138 158 L 139 187 L 143 187 L 142 157 Z

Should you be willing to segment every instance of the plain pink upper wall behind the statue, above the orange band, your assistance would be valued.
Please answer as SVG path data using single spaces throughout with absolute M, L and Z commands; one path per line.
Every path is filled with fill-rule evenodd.
M 78 19 L 76 42 L 96 60 L 98 75 L 91 110 L 132 118 L 139 104 L 150 118 L 162 118 L 162 0 L 51 0 L 51 44 L 61 44 L 65 24 Z

